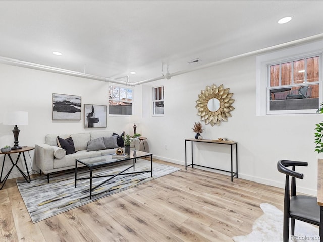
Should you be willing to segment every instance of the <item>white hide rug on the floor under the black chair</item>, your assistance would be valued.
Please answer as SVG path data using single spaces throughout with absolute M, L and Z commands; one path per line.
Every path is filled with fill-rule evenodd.
M 268 203 L 262 203 L 260 207 L 264 214 L 253 223 L 252 232 L 233 237 L 235 242 L 283 241 L 283 212 Z M 319 241 L 318 228 L 296 220 L 295 236 L 292 238 L 290 235 L 289 241 Z

